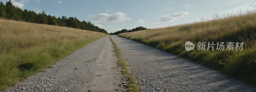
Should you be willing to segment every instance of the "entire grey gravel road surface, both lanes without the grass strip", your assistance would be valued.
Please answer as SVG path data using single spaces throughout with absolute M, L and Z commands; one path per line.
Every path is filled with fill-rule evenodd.
M 144 92 L 253 92 L 256 89 L 150 46 L 116 35 L 111 38 Z M 123 82 L 122 68 L 117 67 L 114 50 L 109 36 L 105 36 L 6 91 L 115 92 L 114 89 L 120 89 L 123 92 L 126 89 L 119 86 Z

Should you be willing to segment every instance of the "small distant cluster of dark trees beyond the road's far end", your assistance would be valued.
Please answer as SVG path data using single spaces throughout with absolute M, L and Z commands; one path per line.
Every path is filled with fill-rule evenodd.
M 137 27 L 137 28 L 133 28 L 132 30 L 127 30 L 127 29 L 123 29 L 121 31 L 116 31 L 115 33 L 108 33 L 108 35 L 118 35 L 118 34 L 121 34 L 121 33 L 127 33 L 127 32 L 134 32 L 134 31 L 140 31 L 140 30 L 151 30 L 151 29 L 147 29 L 147 28 L 144 28 L 144 27 Z

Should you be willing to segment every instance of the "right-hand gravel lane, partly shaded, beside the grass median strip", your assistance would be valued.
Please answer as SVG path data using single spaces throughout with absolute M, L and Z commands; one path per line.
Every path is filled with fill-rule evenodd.
M 153 47 L 111 36 L 144 92 L 254 92 L 254 86 Z M 184 43 L 185 44 L 185 43 Z

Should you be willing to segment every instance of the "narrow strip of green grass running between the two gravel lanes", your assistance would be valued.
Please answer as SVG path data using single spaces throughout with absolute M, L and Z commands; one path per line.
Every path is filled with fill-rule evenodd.
M 122 57 L 122 55 L 120 53 L 120 49 L 117 48 L 116 43 L 113 41 L 111 36 L 109 38 L 115 46 L 116 55 L 117 55 L 118 59 L 120 60 L 119 65 L 122 67 L 122 72 L 124 74 L 124 77 L 128 79 L 128 84 L 125 85 L 125 87 L 128 88 L 126 91 L 140 92 L 141 90 L 139 89 L 139 87 L 134 82 L 136 80 L 135 77 L 131 76 L 130 73 L 129 73 L 129 70 L 127 69 L 127 64 L 126 64 L 126 62 L 124 62 L 124 58 Z

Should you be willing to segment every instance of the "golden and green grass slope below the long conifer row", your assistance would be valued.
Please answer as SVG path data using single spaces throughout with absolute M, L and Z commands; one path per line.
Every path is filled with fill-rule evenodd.
M 0 19 L 0 90 L 107 34 Z

